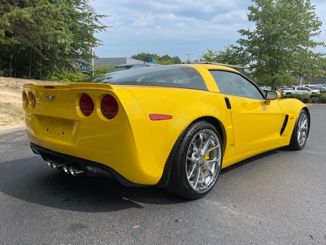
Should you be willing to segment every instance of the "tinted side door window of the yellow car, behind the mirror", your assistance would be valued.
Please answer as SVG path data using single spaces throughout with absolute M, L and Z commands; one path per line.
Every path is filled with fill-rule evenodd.
M 264 100 L 260 91 L 238 74 L 222 70 L 210 70 L 220 92 L 250 99 Z

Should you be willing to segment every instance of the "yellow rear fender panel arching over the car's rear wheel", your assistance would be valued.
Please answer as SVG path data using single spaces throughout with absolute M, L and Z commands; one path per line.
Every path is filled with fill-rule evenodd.
M 130 88 L 147 117 L 152 133 L 158 165 L 165 167 L 167 159 L 182 132 L 199 118 L 215 118 L 226 140 L 225 157 L 234 156 L 231 112 L 224 95 L 215 92 L 178 88 Z M 195 98 L 195 99 L 194 99 Z M 149 114 L 171 115 L 168 120 L 151 120 Z

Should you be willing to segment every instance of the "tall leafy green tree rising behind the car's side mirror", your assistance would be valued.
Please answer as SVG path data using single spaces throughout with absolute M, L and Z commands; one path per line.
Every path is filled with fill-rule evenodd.
M 255 30 L 239 30 L 236 49 L 249 53 L 256 78 L 268 78 L 275 89 L 280 77 L 319 74 L 322 56 L 313 48 L 325 46 L 313 40 L 319 36 L 321 21 L 315 6 L 305 0 L 252 0 L 248 20 Z

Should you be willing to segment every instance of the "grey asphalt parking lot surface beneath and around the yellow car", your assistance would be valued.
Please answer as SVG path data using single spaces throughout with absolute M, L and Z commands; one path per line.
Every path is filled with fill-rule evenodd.
M 73 178 L 34 155 L 23 128 L 0 132 L 1 244 L 326 244 L 326 106 L 306 147 L 222 170 L 203 199 Z

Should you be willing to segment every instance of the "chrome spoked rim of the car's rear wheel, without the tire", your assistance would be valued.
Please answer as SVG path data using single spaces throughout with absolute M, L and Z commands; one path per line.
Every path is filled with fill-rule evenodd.
M 216 133 L 199 131 L 189 144 L 185 162 L 189 185 L 198 192 L 210 189 L 221 168 L 221 142 Z

